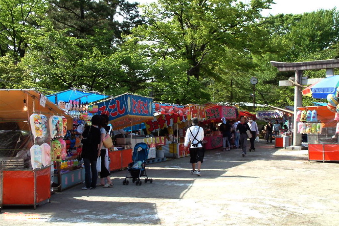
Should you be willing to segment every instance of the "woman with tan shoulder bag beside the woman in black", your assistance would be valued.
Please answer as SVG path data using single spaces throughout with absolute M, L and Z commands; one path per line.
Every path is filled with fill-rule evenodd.
M 108 131 L 110 127 L 108 127 L 108 115 L 102 114 L 100 115 L 100 158 L 101 158 L 101 171 L 100 171 L 100 184 L 97 186 L 104 186 L 104 188 L 109 188 L 113 186 L 113 182 L 110 179 L 110 172 L 109 172 L 109 163 L 108 163 L 108 148 L 105 147 L 103 140 L 109 136 Z M 108 129 L 108 131 L 107 131 Z M 112 144 L 113 145 L 113 144 Z M 107 183 L 105 183 L 105 178 Z

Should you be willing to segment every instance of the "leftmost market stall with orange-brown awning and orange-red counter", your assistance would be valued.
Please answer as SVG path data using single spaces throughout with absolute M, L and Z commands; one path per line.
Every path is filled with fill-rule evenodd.
M 50 123 L 54 118 L 57 124 Z M 35 90 L 0 90 L 0 207 L 36 208 L 49 201 L 52 132 L 62 137 L 71 124 L 67 113 Z

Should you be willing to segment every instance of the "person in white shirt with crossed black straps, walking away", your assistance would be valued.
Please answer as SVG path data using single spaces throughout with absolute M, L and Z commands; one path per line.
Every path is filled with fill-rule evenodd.
M 188 143 L 191 142 L 189 147 L 189 156 L 190 163 L 192 163 L 191 174 L 196 174 L 197 176 L 201 176 L 200 167 L 203 162 L 203 157 L 205 154 L 205 149 L 202 147 L 202 140 L 204 137 L 203 129 L 198 126 L 199 120 L 198 118 L 192 119 L 192 126 L 187 129 L 185 136 L 184 148 L 187 151 Z M 196 169 L 197 164 L 197 171 Z

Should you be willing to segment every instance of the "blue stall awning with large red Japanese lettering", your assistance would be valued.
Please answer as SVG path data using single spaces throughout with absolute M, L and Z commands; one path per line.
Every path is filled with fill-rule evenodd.
M 153 99 L 125 93 L 97 103 L 98 114 L 107 114 L 113 129 L 123 129 L 153 119 Z

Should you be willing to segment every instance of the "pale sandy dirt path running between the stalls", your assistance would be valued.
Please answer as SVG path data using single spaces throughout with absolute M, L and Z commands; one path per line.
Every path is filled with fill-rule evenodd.
M 147 166 L 152 184 L 122 181 L 113 188 L 82 191 L 82 185 L 53 194 L 51 203 L 2 210 L 0 225 L 174 225 L 334 226 L 339 224 L 339 164 L 308 162 L 308 151 L 275 149 L 263 141 L 241 156 L 206 151 L 202 177 L 190 174 L 189 158 Z M 36 213 L 39 220 L 5 219 Z

